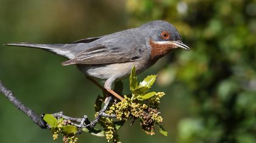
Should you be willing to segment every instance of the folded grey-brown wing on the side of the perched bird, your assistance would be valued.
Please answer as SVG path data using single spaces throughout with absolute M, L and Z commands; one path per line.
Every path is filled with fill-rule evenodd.
M 62 65 L 132 62 L 148 53 L 145 52 L 147 49 L 144 41 L 131 33 L 118 33 L 92 42 L 90 48 L 80 52 L 74 59 L 63 62 Z

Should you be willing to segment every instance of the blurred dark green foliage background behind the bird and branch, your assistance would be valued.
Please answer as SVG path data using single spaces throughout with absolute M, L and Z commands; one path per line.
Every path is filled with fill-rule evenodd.
M 175 50 L 140 74 L 158 74 L 154 91 L 165 137 L 148 136 L 138 122 L 119 131 L 122 142 L 256 142 L 256 1 L 0 0 L 0 43 L 65 43 L 145 22 L 171 22 L 191 50 Z M 64 111 L 93 118 L 101 91 L 65 58 L 43 50 L 0 45 L 0 79 L 36 113 Z M 124 80 L 124 93 L 129 93 Z M 0 142 L 53 141 L 0 96 Z M 79 142 L 106 142 L 79 135 Z

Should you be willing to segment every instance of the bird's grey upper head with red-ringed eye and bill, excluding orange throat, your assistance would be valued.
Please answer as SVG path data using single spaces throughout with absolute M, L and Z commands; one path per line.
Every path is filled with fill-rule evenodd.
M 189 50 L 187 45 L 182 43 L 180 34 L 174 25 L 166 21 L 151 21 L 141 25 L 140 30 L 158 44 L 170 44 Z

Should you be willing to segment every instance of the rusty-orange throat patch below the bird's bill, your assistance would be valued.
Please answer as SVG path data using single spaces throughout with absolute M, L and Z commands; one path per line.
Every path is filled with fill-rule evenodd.
M 151 46 L 151 62 L 153 64 L 157 62 L 158 59 L 162 58 L 168 54 L 173 48 L 176 48 L 174 45 L 169 44 L 158 44 L 157 42 L 149 39 L 149 45 Z

